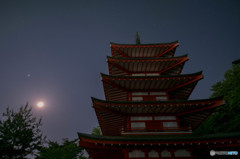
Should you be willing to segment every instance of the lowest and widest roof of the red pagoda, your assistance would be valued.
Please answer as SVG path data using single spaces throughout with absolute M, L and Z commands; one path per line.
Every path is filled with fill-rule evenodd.
M 149 136 L 98 136 L 78 133 L 79 145 L 84 148 L 113 149 L 128 148 L 170 148 L 176 146 L 191 148 L 240 147 L 240 132 L 207 135 L 149 135 Z

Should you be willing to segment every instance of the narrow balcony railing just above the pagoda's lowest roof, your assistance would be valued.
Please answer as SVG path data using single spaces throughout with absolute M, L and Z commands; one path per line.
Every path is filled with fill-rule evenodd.
M 162 129 L 146 129 L 146 128 L 134 128 L 134 129 L 122 129 L 122 135 L 159 135 L 159 134 L 191 134 L 191 127 L 182 127 L 182 128 L 162 128 Z

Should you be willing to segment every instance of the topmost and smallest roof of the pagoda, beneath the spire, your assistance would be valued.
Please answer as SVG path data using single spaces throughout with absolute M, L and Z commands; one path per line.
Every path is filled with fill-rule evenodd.
M 178 41 L 155 44 L 110 43 L 113 57 L 172 57 L 178 45 Z

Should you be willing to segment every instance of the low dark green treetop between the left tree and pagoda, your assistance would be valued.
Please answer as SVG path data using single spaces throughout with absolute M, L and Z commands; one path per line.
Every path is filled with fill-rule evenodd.
M 49 141 L 48 147 L 41 148 L 36 159 L 87 159 L 84 157 L 83 148 L 79 147 L 76 141 L 64 139 L 62 145 Z

